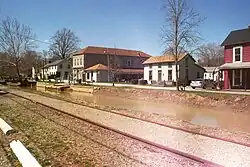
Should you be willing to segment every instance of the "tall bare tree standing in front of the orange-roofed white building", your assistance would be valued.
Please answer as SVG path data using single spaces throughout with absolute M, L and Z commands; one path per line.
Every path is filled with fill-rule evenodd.
M 187 5 L 187 0 L 166 0 L 163 9 L 166 16 L 161 38 L 165 52 L 175 58 L 176 88 L 179 90 L 178 59 L 201 39 L 197 28 L 204 19 Z

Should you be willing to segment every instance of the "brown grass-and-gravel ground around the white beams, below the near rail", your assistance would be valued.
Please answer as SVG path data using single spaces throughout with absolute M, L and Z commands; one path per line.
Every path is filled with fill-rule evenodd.
M 7 141 L 19 139 L 42 166 L 200 166 L 12 95 L 1 96 L 0 117 L 18 130 L 0 141 L 5 148 Z M 11 163 L 18 164 L 10 151 L 7 155 Z

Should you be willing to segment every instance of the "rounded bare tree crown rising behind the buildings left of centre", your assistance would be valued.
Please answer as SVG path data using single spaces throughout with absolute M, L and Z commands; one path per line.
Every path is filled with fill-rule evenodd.
M 70 29 L 57 30 L 51 38 L 50 54 L 60 59 L 69 57 L 79 48 L 80 40 Z

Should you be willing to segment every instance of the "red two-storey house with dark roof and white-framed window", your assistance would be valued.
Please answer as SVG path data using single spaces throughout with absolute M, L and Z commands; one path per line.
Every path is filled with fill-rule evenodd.
M 222 43 L 225 89 L 250 89 L 250 26 L 232 31 Z

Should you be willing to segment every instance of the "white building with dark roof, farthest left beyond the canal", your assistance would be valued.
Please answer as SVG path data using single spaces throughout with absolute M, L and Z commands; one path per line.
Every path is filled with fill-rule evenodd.
M 41 71 L 41 79 L 68 83 L 72 75 L 71 59 L 56 60 L 46 64 Z

